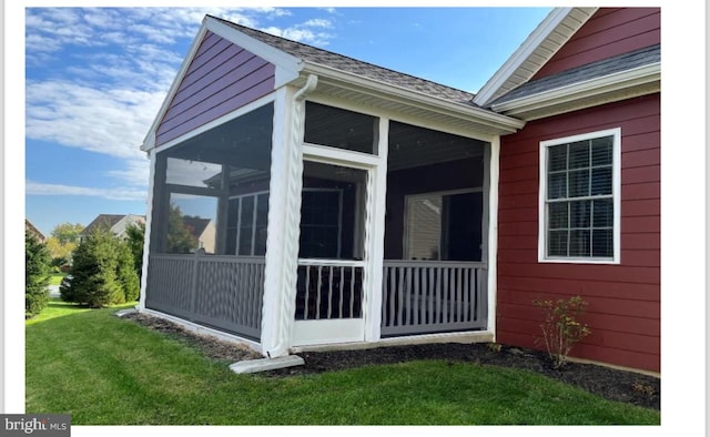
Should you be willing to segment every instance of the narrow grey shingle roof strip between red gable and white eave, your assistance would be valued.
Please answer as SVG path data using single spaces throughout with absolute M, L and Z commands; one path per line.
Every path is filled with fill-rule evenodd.
M 591 62 L 557 74 L 527 82 L 507 94 L 495 100 L 490 104 L 500 104 L 515 99 L 535 95 L 545 91 L 572 85 L 590 79 L 619 73 L 635 68 L 649 65 L 661 61 L 660 44 L 650 45 L 628 53 L 618 54 L 608 59 Z

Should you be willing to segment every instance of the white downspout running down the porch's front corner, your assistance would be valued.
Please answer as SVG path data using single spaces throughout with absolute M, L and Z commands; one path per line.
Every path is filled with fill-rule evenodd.
M 291 237 L 284 238 L 284 252 L 282 257 L 283 270 L 281 283 L 281 302 L 278 305 L 278 336 L 277 344 L 271 349 L 266 350 L 268 358 L 275 358 L 288 354 L 288 344 L 291 338 L 291 327 L 293 325 L 294 312 L 293 305 L 295 299 L 291 293 L 296 288 L 297 268 L 298 268 L 298 233 L 300 223 L 296 217 L 301 210 L 301 189 L 302 189 L 302 174 L 303 174 L 303 154 L 301 150 L 301 143 L 303 142 L 303 130 L 305 121 L 305 104 L 303 101 L 306 95 L 315 90 L 318 84 L 318 77 L 315 74 L 308 74 L 306 83 L 293 96 L 293 116 L 291 119 L 291 150 L 288 152 L 288 177 L 286 179 L 286 234 L 291 234 Z M 292 230 L 292 232 L 288 232 Z M 294 235 L 295 234 L 295 235 Z M 284 286 L 285 285 L 285 286 Z M 285 292 L 285 293 L 284 293 Z

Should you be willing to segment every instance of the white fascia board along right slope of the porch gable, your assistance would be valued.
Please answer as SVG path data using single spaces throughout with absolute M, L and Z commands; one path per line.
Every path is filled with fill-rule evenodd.
M 281 88 L 298 78 L 298 72 L 303 68 L 303 61 L 300 58 L 291 55 L 263 41 L 242 33 L 237 29 L 234 29 L 215 18 L 206 17 L 205 26 L 209 31 L 216 33 L 233 44 L 236 44 L 276 65 L 276 81 L 274 88 Z

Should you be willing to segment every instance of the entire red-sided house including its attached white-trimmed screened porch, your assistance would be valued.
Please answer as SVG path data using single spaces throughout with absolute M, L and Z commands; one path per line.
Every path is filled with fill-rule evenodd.
M 554 9 L 475 95 L 207 16 L 142 145 L 139 309 L 276 358 L 539 347 L 532 301 L 581 295 L 574 356 L 660 372 L 659 101 L 658 8 Z

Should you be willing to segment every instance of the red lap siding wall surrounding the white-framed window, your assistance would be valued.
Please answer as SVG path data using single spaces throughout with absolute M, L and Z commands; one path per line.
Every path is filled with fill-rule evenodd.
M 621 128 L 621 264 L 538 263 L 540 141 Z M 500 148 L 497 339 L 539 347 L 531 301 L 581 295 L 572 355 L 660 372 L 660 94 L 529 122 Z

